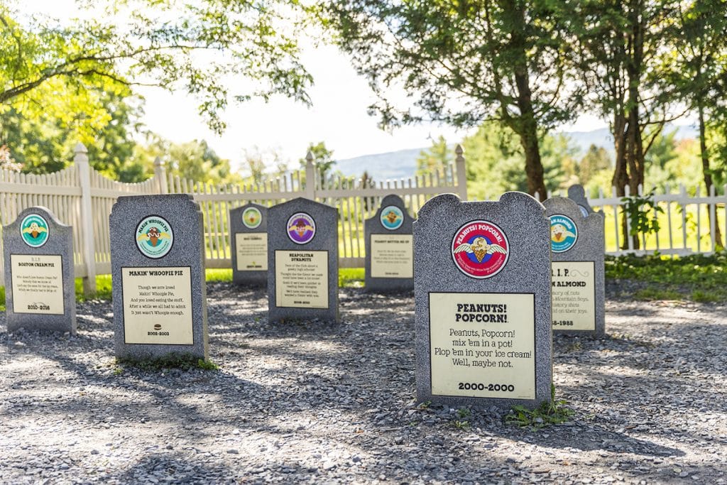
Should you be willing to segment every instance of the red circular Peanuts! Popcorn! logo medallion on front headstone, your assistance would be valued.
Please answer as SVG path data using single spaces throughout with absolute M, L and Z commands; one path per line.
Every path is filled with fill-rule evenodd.
M 454 234 L 452 259 L 462 273 L 472 278 L 495 276 L 507 264 L 510 243 L 505 232 L 486 220 L 473 220 Z

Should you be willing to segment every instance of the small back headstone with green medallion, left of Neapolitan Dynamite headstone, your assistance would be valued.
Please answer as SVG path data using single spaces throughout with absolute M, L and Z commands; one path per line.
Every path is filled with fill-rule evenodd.
M 230 210 L 232 281 L 268 286 L 268 207 L 245 204 Z

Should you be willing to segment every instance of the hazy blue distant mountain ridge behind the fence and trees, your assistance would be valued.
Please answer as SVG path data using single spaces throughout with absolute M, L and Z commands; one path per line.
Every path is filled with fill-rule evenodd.
M 672 132 L 674 129 L 677 130 L 676 138 L 678 140 L 696 138 L 697 136 L 696 129 L 686 125 L 667 125 L 664 128 L 664 133 Z M 574 145 L 579 148 L 581 155 L 588 151 L 590 145 L 606 148 L 609 153 L 613 153 L 614 150 L 614 139 L 611 137 L 608 128 L 594 129 L 590 132 L 565 132 L 563 135 L 571 138 Z M 335 169 L 340 170 L 346 177 L 361 177 L 366 171 L 377 181 L 407 179 L 414 177 L 417 173 L 419 153 L 428 148 L 409 148 L 407 150 L 374 153 L 357 156 L 353 159 L 339 160 L 335 165 Z

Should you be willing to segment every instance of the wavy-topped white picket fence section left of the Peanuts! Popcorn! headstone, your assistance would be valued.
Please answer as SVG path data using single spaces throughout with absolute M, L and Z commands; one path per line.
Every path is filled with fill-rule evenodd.
M 419 208 L 438 193 L 457 193 L 466 200 L 465 174 L 465 159 L 458 147 L 454 163 L 443 170 L 406 180 L 377 183 L 350 177 L 322 180 L 309 154 L 305 169 L 255 185 L 210 185 L 168 177 L 158 160 L 152 178 L 126 184 L 108 180 L 90 167 L 87 150 L 79 144 L 73 165 L 60 172 L 24 175 L 0 171 L 0 223 L 8 225 L 23 209 L 41 205 L 54 212 L 61 222 L 73 226 L 76 276 L 84 278 L 84 291 L 91 293 L 95 291 L 95 276 L 111 273 L 108 216 L 119 196 L 191 194 L 204 215 L 207 268 L 231 267 L 230 209 L 249 201 L 270 207 L 296 197 L 306 197 L 338 209 L 340 266 L 356 268 L 364 266 L 364 220 L 374 215 L 384 196 L 390 193 L 401 196 L 409 212 L 416 215 Z M 0 258 L 0 284 L 4 281 L 1 270 Z

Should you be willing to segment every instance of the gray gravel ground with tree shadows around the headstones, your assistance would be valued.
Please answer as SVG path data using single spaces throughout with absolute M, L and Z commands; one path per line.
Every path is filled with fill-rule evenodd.
M 555 337 L 574 416 L 417 406 L 414 302 L 341 290 L 340 324 L 268 324 L 262 291 L 211 284 L 220 370 L 119 369 L 110 302 L 79 334 L 7 334 L 0 482 L 725 483 L 725 306 L 630 302 L 609 284 L 603 340 Z

